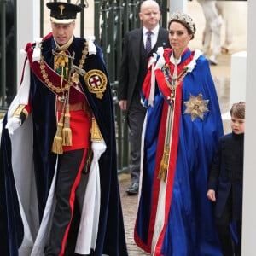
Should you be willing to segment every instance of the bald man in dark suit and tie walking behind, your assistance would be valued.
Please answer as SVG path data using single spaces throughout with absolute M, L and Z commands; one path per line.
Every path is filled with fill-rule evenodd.
M 160 8 L 154 0 L 142 3 L 143 27 L 127 32 L 119 73 L 119 107 L 127 111 L 131 144 L 131 187 L 128 195 L 137 195 L 140 173 L 141 134 L 146 108 L 141 104 L 140 90 L 148 72 L 148 59 L 158 47 L 170 47 L 168 31 L 159 25 Z

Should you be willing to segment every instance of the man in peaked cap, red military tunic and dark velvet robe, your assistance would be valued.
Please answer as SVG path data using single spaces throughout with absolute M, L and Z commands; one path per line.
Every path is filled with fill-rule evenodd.
M 47 7 L 52 32 L 26 45 L 20 90 L 3 119 L 0 234 L 6 240 L 0 247 L 4 255 L 127 255 L 102 52 L 91 40 L 73 36 L 80 6 Z M 90 148 L 93 159 L 77 214 Z M 73 216 L 81 217 L 79 231 L 68 242 Z

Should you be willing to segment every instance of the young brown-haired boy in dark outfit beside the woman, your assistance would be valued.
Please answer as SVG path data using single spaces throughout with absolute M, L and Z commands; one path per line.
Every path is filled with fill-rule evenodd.
M 230 223 L 233 221 L 237 230 L 237 253 L 241 255 L 245 102 L 233 104 L 230 114 L 232 132 L 219 138 L 218 152 L 212 163 L 207 191 L 207 198 L 216 202 L 216 224 L 224 256 L 234 255 L 230 230 Z

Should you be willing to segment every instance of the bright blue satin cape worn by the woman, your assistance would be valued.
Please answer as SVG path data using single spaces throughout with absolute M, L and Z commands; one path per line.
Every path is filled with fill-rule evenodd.
M 186 50 L 181 62 L 191 57 Z M 172 50 L 170 50 L 170 55 Z M 151 71 L 149 71 L 151 72 Z M 150 79 L 148 79 L 150 80 Z M 207 177 L 212 157 L 217 149 L 218 137 L 223 135 L 218 96 L 212 81 L 208 61 L 199 56 L 195 67 L 183 79 L 181 113 L 177 141 L 177 160 L 172 187 L 172 195 L 166 219 L 163 239 L 157 245 L 160 254 L 152 251 L 154 232 L 154 213 L 158 207 L 159 190 L 155 188 L 155 162 L 157 146 L 163 135 L 160 134 L 161 115 L 166 97 L 155 88 L 154 107 L 149 106 L 143 137 L 143 183 L 139 198 L 135 241 L 152 255 L 168 256 L 220 256 L 222 255 L 212 214 L 212 203 L 207 199 Z M 207 103 L 208 112 L 203 119 L 194 121 L 190 114 L 184 114 L 189 96 L 202 94 Z M 146 100 L 147 102 L 147 100 Z

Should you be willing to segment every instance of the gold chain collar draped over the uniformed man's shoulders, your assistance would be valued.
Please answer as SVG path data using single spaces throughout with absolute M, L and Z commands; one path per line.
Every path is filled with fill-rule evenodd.
M 43 47 L 41 46 L 41 53 L 43 52 Z M 84 49 L 82 51 L 82 57 L 79 60 L 79 68 L 83 68 L 84 66 L 84 62 L 86 59 L 86 56 L 88 54 L 88 42 L 84 42 Z M 41 54 L 40 56 L 40 70 L 44 79 L 44 83 L 47 84 L 47 86 L 49 87 L 49 89 L 54 90 L 56 93 L 60 93 L 60 92 L 64 92 L 66 90 L 69 90 L 70 88 L 70 84 L 67 83 L 65 86 L 58 87 L 55 86 L 48 78 L 48 74 L 45 71 L 45 65 L 44 65 L 44 56 Z

